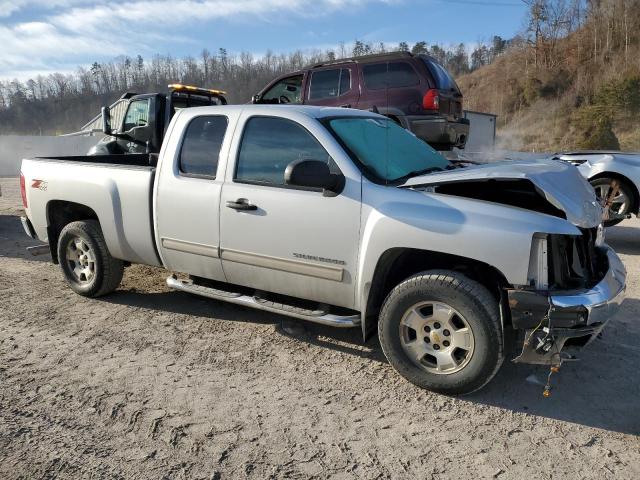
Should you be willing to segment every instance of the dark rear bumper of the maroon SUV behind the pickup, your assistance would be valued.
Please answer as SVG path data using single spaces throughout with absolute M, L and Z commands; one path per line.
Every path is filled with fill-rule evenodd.
M 469 120 L 451 122 L 439 115 L 406 116 L 405 127 L 429 144 L 464 148 L 469 138 Z

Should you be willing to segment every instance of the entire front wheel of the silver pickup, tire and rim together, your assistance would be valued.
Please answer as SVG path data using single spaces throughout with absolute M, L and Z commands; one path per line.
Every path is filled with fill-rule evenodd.
M 400 375 L 434 392 L 474 392 L 504 360 L 498 301 L 458 272 L 427 271 L 403 281 L 385 300 L 378 334 Z

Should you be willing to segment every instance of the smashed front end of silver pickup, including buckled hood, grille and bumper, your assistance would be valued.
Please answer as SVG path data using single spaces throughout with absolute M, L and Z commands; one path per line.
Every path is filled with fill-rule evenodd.
M 559 366 L 597 337 L 616 312 L 626 271 L 604 244 L 603 209 L 593 188 L 569 165 L 503 162 L 406 182 L 427 192 L 472 198 L 566 220 L 575 234 L 536 233 L 527 284 L 508 288 L 511 324 L 524 331 L 516 362 Z

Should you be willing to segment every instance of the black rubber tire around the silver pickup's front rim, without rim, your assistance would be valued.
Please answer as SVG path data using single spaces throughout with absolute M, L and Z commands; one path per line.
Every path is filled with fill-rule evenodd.
M 429 372 L 414 363 L 403 349 L 400 322 L 405 312 L 425 301 L 452 307 L 471 329 L 474 348 L 461 370 L 448 374 Z M 426 271 L 395 287 L 382 307 L 378 335 L 385 356 L 400 375 L 421 388 L 448 395 L 479 390 L 495 376 L 504 360 L 497 300 L 484 286 L 458 272 Z

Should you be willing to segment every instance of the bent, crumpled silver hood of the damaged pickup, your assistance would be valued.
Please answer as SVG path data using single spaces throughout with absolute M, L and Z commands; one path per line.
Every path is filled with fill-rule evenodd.
M 595 191 L 573 165 L 564 162 L 521 160 L 473 165 L 414 177 L 402 186 L 443 185 L 491 179 L 529 180 L 549 203 L 565 212 L 567 220 L 577 227 L 593 228 L 602 221 L 603 209 Z

